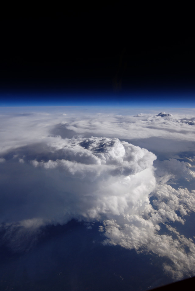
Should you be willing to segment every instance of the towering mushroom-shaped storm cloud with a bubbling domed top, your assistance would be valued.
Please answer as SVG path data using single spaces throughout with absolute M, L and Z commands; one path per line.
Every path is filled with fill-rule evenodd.
M 145 204 L 149 204 L 148 195 L 155 187 L 152 165 L 156 156 L 146 149 L 120 142 L 117 138 L 92 137 L 64 139 L 61 143 L 59 138 L 55 142 L 53 139 L 50 151 L 55 158 L 53 160 L 48 160 L 49 154 L 41 156 L 40 161 L 30 160 L 32 153 L 24 157 L 26 163 L 19 160 L 20 171 L 28 169 L 32 174 L 31 183 L 34 173 L 39 169 L 42 175 L 39 179 L 44 183 L 49 179 L 53 187 L 48 191 L 41 186 L 40 191 L 40 186 L 37 188 L 35 184 L 34 189 L 28 189 L 31 192 L 28 198 L 19 195 L 18 199 L 10 190 L 7 199 L 14 197 L 15 204 L 20 203 L 24 207 L 19 215 L 17 212 L 15 216 L 12 214 L 14 222 L 34 218 L 55 223 L 80 217 L 100 219 L 101 214 L 119 215 L 125 213 L 126 209 L 141 213 Z M 14 165 L 8 163 L 8 171 Z M 23 177 L 19 175 L 18 179 L 20 185 L 24 184 Z M 27 214 L 26 208 L 30 208 L 31 212 Z M 5 216 L 1 217 L 2 222 L 3 219 Z

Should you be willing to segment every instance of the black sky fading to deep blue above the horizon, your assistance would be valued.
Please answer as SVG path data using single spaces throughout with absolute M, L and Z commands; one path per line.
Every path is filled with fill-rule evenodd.
M 2 98 L 194 92 L 190 7 L 22 8 L 2 13 Z

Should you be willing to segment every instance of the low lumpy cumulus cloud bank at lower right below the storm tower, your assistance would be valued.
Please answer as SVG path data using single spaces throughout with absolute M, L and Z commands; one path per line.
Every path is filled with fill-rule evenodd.
M 195 210 L 195 191 L 173 189 L 166 184 L 158 185 L 153 200 L 155 209 L 148 208 L 148 217 L 126 213 L 121 219 L 107 219 L 100 227 L 107 237 L 104 244 L 120 245 L 137 252 L 153 252 L 165 257 L 163 268 L 174 279 L 195 274 L 195 244 L 191 238 L 181 235 L 170 222 Z M 180 216 L 176 212 L 180 213 Z M 159 234 L 159 224 L 166 223 L 169 234 Z M 186 251 L 187 249 L 187 251 Z

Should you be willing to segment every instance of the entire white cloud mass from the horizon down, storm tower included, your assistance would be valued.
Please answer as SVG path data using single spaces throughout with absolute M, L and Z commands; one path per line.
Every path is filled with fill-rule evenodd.
M 46 224 L 100 221 L 105 244 L 164 257 L 164 270 L 175 279 L 194 275 L 193 240 L 174 223 L 185 224 L 195 211 L 195 191 L 168 185 L 183 179 L 193 188 L 192 113 L 64 112 L 2 114 L 3 240 L 17 251 Z M 148 149 L 168 157 L 156 160 Z

